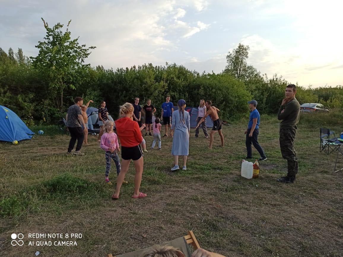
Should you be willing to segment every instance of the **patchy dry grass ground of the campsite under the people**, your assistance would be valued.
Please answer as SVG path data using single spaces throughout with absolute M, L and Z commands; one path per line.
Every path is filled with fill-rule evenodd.
M 202 248 L 225 256 L 343 256 L 343 171 L 333 172 L 334 153 L 319 153 L 320 126 L 338 134 L 343 130 L 341 115 L 335 119 L 330 120 L 336 125 L 328 125 L 324 116 L 301 116 L 294 184 L 275 181 L 285 174 L 286 161 L 273 116 L 261 116 L 259 141 L 268 160 L 260 163 L 257 179 L 240 176 L 247 120 L 224 126 L 225 147 L 213 150 L 209 139 L 195 139 L 192 129 L 187 171 L 170 171 L 171 138 L 162 138 L 158 151 L 150 150 L 152 137 L 145 137 L 149 153 L 141 191 L 148 197 L 131 198 L 131 164 L 119 201 L 111 201 L 115 165 L 110 172 L 114 185 L 108 187 L 105 154 L 94 136 L 91 146 L 82 148 L 85 156 L 70 156 L 69 136 L 55 127 L 35 127 L 44 135 L 18 145 L 1 143 L 0 256 L 34 256 L 36 251 L 39 256 L 115 256 L 188 230 Z M 214 145 L 219 142 L 215 134 Z M 259 158 L 255 149 L 253 155 Z M 11 245 L 12 233 L 24 234 L 23 246 Z M 81 233 L 82 238 L 72 240 L 77 246 L 36 246 L 36 241 L 56 239 L 28 239 L 28 233 Z

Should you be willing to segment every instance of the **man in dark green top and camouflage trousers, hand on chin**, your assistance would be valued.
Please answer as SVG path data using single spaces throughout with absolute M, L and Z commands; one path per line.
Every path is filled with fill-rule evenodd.
M 277 119 L 280 123 L 280 149 L 282 157 L 287 160 L 287 176 L 277 179 L 282 183 L 294 183 L 298 173 L 297 155 L 294 149 L 294 140 L 297 133 L 297 124 L 300 116 L 300 104 L 295 98 L 297 88 L 289 84 L 285 90 L 285 98 L 282 100 Z

